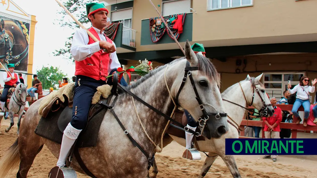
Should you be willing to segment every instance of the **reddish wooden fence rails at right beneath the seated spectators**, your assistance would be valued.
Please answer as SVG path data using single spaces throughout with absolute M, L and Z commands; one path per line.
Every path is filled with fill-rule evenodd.
M 282 111 L 291 111 L 293 108 L 293 105 L 277 105 L 277 107 L 281 108 Z M 254 107 L 249 107 L 249 108 L 254 108 Z M 301 106 L 298 111 L 304 111 L 304 108 Z M 304 130 L 304 131 L 314 131 L 317 132 L 317 126 L 311 126 L 307 125 L 307 127 L 304 127 L 303 124 L 295 124 L 297 121 L 297 117 L 293 117 L 293 123 L 280 123 L 280 128 L 281 129 L 291 129 L 292 132 L 292 138 L 297 138 L 297 132 Z M 257 127 L 262 127 L 262 138 L 264 138 L 264 125 L 265 123 L 263 121 L 256 121 L 256 120 L 249 120 L 247 121 L 245 118 L 243 118 L 240 128 L 243 129 L 244 126 L 247 125 L 249 126 L 257 126 Z M 244 130 L 240 132 L 239 138 L 250 138 L 250 137 L 244 137 Z

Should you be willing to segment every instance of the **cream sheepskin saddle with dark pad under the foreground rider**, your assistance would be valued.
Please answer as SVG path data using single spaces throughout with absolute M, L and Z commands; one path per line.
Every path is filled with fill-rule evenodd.
M 102 104 L 99 104 L 99 101 L 110 103 L 113 96 L 111 88 L 109 85 L 97 88 L 89 110 L 86 129 L 82 130 L 77 138 L 78 148 L 96 146 L 100 125 L 107 111 Z M 74 83 L 68 83 L 58 91 L 44 97 L 38 110 L 42 118 L 35 129 L 37 135 L 61 144 L 63 131 L 72 119 L 73 96 Z

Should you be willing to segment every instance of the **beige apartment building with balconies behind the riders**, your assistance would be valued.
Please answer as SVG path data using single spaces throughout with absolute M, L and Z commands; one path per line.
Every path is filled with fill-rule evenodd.
M 160 34 L 164 27 L 149 1 L 100 1 L 108 3 L 111 21 L 122 22 L 115 42 L 119 43 L 118 57 L 126 68 L 135 66 L 138 60 L 150 60 L 155 67 L 183 56 L 167 32 Z M 287 89 L 288 80 L 296 85 L 303 75 L 317 78 L 315 0 L 152 2 L 165 19 L 174 20 L 171 15 L 185 16 L 182 33 L 176 33 L 178 41 L 181 46 L 187 39 L 191 44 L 204 45 L 206 57 L 221 73 L 221 92 L 247 74 L 264 73 L 262 83 L 269 95 L 278 100 Z M 153 35 L 156 30 L 158 33 Z M 311 96 L 313 103 L 315 94 Z

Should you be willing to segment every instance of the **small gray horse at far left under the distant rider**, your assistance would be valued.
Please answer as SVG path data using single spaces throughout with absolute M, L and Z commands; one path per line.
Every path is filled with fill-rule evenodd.
M 23 111 L 24 111 L 24 108 L 25 108 L 26 96 L 28 94 L 27 87 L 28 86 L 25 86 L 23 83 L 19 83 L 16 86 L 14 92 L 12 93 L 12 96 L 11 96 L 10 102 L 9 102 L 9 106 L 8 106 L 11 123 L 10 123 L 10 126 L 5 129 L 5 132 L 9 132 L 10 131 L 11 127 L 14 125 L 14 120 L 13 120 L 14 117 L 13 117 L 13 115 L 14 114 L 18 114 L 18 131 L 17 131 L 17 134 L 19 135 L 21 118 L 22 118 Z M 4 112 L 7 112 L 7 111 L 8 111 L 8 109 L 5 108 Z M 0 123 L 1 123 L 2 118 L 3 118 L 3 116 L 0 116 Z M 2 134 L 1 131 L 0 131 L 0 134 Z

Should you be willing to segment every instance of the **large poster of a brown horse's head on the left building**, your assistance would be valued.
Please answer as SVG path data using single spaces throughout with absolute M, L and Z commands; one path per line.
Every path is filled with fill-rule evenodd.
M 27 71 L 29 29 L 27 22 L 0 16 L 0 61 L 6 68 L 13 63 L 15 70 Z

